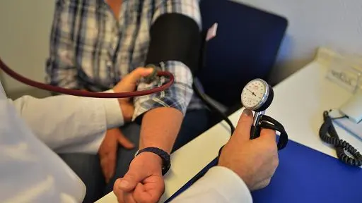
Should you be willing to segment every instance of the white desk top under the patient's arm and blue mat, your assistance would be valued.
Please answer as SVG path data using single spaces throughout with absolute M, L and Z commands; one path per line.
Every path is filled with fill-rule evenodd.
M 322 113 L 338 108 L 351 94 L 325 78 L 327 68 L 313 62 L 274 87 L 274 101 L 267 115 L 286 128 L 289 139 L 337 157 L 334 149 L 324 144 L 318 135 Z M 230 121 L 236 125 L 243 109 L 233 113 Z M 335 125 L 341 139 L 362 150 L 362 142 Z M 160 202 L 173 195 L 182 185 L 201 171 L 228 141 L 228 125 L 221 122 L 172 154 L 172 166 L 165 176 L 165 194 Z M 202 149 L 202 150 L 200 150 Z M 98 203 L 117 202 L 112 192 Z

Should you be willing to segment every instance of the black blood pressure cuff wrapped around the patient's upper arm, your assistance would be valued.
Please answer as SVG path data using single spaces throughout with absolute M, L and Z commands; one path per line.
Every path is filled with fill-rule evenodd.
M 146 64 L 180 61 L 197 73 L 202 35 L 196 21 L 180 13 L 166 13 L 151 26 Z

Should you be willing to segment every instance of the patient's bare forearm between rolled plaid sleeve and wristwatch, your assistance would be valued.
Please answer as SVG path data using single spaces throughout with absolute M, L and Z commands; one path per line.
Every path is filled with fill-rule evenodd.
M 170 153 L 182 123 L 182 112 L 168 107 L 148 111 L 142 120 L 140 149 L 158 147 Z

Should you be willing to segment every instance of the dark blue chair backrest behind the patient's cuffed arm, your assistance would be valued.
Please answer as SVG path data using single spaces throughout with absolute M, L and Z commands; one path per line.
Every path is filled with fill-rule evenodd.
M 206 45 L 205 65 L 197 78 L 211 98 L 240 105 L 243 87 L 252 79 L 268 81 L 288 21 L 286 18 L 228 0 L 202 0 L 202 23 L 218 23 Z

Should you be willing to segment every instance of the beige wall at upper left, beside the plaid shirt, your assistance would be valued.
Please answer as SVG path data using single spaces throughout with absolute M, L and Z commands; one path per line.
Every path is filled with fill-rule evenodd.
M 44 82 L 54 0 L 0 1 L 0 57 L 21 75 Z M 8 92 L 29 88 L 1 73 Z

